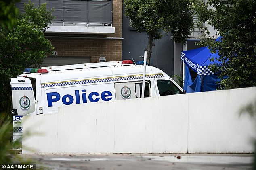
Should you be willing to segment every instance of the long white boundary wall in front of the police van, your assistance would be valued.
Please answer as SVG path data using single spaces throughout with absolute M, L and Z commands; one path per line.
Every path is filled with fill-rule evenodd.
M 252 153 L 256 87 L 60 107 L 23 117 L 23 154 Z

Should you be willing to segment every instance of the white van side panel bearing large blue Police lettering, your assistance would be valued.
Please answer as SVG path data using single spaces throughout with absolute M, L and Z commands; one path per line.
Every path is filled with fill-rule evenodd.
M 57 86 L 43 91 L 45 113 L 57 112 L 58 107 L 115 100 L 113 83 L 84 86 Z

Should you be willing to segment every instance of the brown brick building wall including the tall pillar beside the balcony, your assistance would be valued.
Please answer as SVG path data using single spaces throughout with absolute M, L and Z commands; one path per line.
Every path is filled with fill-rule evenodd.
M 113 27 L 115 33 L 109 35 L 46 34 L 46 38 L 57 56 L 90 57 L 91 62 L 99 62 L 104 56 L 107 61 L 118 61 L 122 60 L 122 0 L 113 0 Z

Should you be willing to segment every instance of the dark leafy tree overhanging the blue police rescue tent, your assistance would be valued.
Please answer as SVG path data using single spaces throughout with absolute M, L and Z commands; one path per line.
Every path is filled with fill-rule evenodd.
M 215 41 L 204 29 L 200 42 L 220 55 L 216 60 L 221 64 L 215 63 L 211 69 L 220 73 L 221 87 L 256 86 L 256 0 L 192 1 L 199 21 L 213 25 L 222 36 L 221 41 Z

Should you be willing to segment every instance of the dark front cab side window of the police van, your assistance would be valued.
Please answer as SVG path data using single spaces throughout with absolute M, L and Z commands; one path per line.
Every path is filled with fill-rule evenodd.
M 157 87 L 160 96 L 182 94 L 182 91 L 170 80 L 157 80 Z

